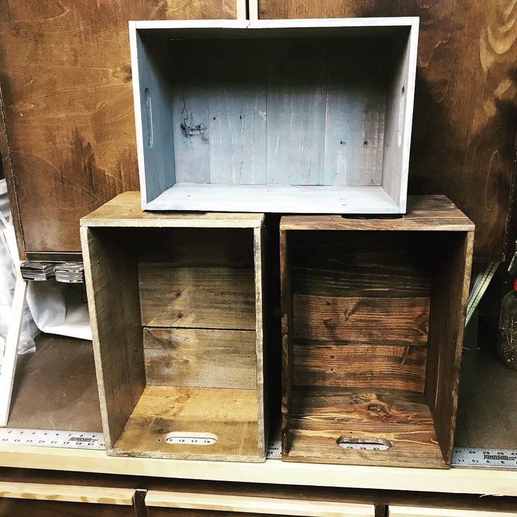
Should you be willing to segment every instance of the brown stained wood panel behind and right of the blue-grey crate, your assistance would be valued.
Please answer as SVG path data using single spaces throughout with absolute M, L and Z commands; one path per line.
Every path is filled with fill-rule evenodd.
M 515 0 L 258 0 L 258 11 L 264 19 L 419 16 L 410 192 L 450 197 L 476 223 L 479 258 L 513 249 Z

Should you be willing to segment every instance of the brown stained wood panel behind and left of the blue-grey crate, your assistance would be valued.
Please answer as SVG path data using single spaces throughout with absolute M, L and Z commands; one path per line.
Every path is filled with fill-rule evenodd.
M 0 81 L 27 251 L 79 251 L 79 218 L 138 190 L 128 20 L 235 17 L 235 0 L 0 0 Z

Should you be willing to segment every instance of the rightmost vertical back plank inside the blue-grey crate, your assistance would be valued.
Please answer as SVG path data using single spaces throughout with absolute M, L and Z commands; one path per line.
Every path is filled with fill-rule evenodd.
M 388 76 L 379 39 L 327 45 L 324 185 L 381 185 Z

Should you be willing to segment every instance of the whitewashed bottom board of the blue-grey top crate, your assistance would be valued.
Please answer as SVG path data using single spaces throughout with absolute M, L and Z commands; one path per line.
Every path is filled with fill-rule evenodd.
M 211 185 L 176 183 L 146 210 L 200 210 L 304 214 L 398 214 L 381 186 Z

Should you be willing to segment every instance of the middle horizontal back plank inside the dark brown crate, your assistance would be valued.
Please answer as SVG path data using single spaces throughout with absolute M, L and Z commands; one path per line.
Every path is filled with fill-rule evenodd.
M 296 338 L 367 345 L 425 346 L 428 298 L 293 295 Z

